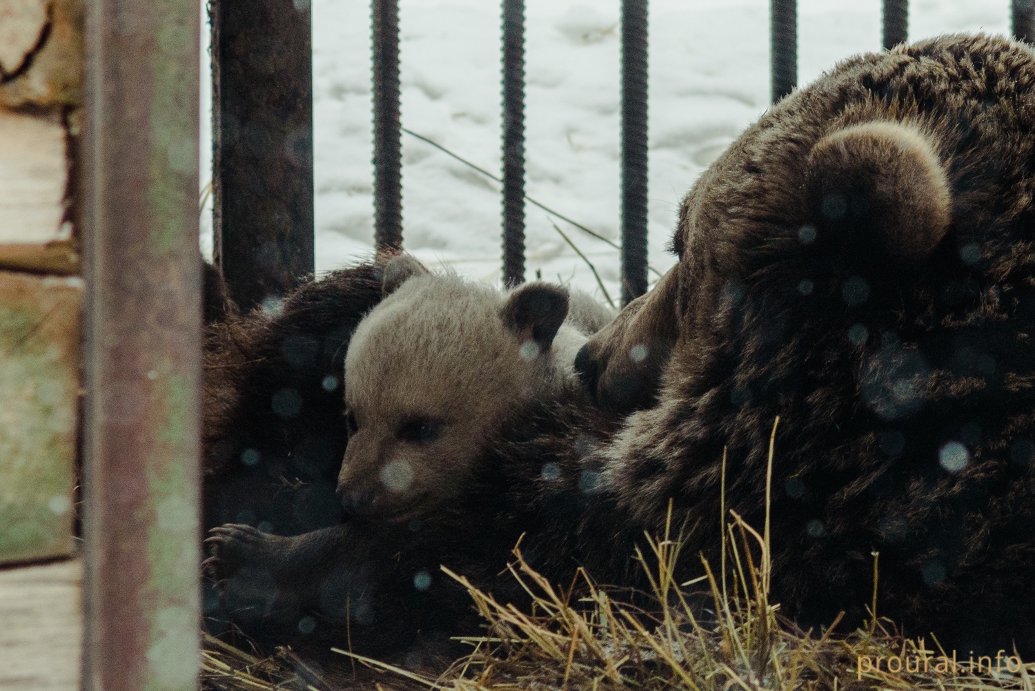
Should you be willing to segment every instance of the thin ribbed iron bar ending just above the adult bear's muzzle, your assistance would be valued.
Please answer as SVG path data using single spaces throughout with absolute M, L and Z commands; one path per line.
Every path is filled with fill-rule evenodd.
M 647 292 L 647 0 L 622 2 L 622 305 Z

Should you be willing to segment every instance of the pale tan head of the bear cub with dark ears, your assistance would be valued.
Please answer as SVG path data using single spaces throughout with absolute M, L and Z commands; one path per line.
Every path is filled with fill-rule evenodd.
M 573 376 L 585 337 L 568 343 L 571 329 L 561 329 L 568 293 L 558 286 L 503 294 L 428 273 L 407 255 L 384 273 L 389 294 L 346 354 L 350 434 L 337 491 L 354 518 L 401 522 L 463 491 L 507 414 Z

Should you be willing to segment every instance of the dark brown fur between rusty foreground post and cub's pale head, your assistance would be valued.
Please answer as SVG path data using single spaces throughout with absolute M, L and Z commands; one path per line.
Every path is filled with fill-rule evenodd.
M 304 283 L 277 314 L 231 313 L 208 327 L 206 527 L 267 523 L 295 535 L 341 520 L 345 353 L 380 299 L 378 269 L 359 266 Z

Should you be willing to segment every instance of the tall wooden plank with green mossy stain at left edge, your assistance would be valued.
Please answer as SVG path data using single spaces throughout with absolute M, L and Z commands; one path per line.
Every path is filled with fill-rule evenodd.
M 0 564 L 70 554 L 81 279 L 0 271 Z

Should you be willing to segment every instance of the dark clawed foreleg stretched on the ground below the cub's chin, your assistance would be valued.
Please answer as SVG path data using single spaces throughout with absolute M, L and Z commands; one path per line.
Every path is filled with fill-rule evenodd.
M 471 607 L 411 536 L 406 525 L 343 523 L 284 537 L 230 523 L 205 541 L 203 569 L 224 614 L 259 640 L 424 659 L 450 646 L 434 632 L 452 633 Z

